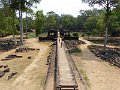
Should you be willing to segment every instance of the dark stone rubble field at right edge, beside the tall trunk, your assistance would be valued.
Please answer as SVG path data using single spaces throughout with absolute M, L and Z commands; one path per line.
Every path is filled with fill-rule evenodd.
M 103 46 L 90 45 L 88 48 L 100 57 L 102 60 L 109 62 L 111 65 L 120 67 L 120 48 L 109 48 L 104 49 Z

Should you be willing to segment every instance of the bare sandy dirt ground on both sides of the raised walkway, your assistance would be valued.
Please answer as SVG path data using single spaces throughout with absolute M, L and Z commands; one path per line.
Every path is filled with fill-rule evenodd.
M 83 39 L 82 39 L 83 40 Z M 87 48 L 90 43 L 80 45 L 82 54 L 72 56 L 74 62 L 82 74 L 89 90 L 120 90 L 120 68 L 111 66 L 97 58 Z M 0 90 L 43 90 L 47 75 L 47 56 L 51 50 L 52 42 L 38 42 L 36 38 L 28 39 L 24 46 L 40 50 L 18 53 L 23 58 L 0 61 L 0 65 L 8 65 L 10 72 L 0 78 Z M 0 52 L 0 60 L 15 50 Z M 32 59 L 28 59 L 31 56 Z M 0 71 L 5 68 L 0 68 Z M 7 77 L 10 73 L 17 72 L 10 80 Z

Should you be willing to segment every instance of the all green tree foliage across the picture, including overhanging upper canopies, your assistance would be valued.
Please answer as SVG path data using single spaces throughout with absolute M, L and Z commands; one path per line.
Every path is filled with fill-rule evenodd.
M 107 17 L 108 34 L 111 36 L 120 35 L 120 3 L 118 3 L 118 0 L 82 0 L 91 6 L 95 4 L 102 5 L 103 9 L 80 10 L 80 14 L 77 17 L 69 14 L 58 15 L 54 11 L 48 12 L 47 15 L 44 15 L 43 11 L 37 11 L 34 14 L 30 8 L 35 7 L 33 3 L 38 3 L 40 0 L 20 1 L 0 1 L 0 35 L 16 34 L 18 32 L 19 20 L 16 16 L 16 11 L 19 10 L 21 3 L 21 10 L 27 12 L 27 17 L 23 19 L 23 28 L 25 30 L 27 24 L 27 29 L 35 29 L 37 36 L 44 30 L 50 29 L 65 29 L 73 32 L 84 31 L 83 33 L 89 35 L 104 36 Z

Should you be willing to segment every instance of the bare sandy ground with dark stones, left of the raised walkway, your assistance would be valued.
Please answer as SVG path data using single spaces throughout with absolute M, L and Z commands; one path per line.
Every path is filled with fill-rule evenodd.
M 23 57 L 0 61 L 0 65 L 8 65 L 10 68 L 10 72 L 0 78 L 0 90 L 43 90 L 48 68 L 47 56 L 51 50 L 49 47 L 51 44 L 52 42 L 38 42 L 36 38 L 27 39 L 25 47 L 40 50 L 18 53 L 17 55 Z M 10 54 L 15 54 L 15 50 L 1 52 L 0 60 Z M 28 56 L 32 58 L 28 59 Z M 7 77 L 12 72 L 17 72 L 17 74 L 8 80 Z

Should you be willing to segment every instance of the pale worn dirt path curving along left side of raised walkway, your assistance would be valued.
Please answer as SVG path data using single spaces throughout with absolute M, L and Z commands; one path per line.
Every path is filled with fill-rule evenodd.
M 24 70 L 13 83 L 14 90 L 43 90 L 44 82 L 47 74 L 47 66 L 45 63 L 48 46 L 36 43 L 36 39 L 29 39 L 28 45 L 33 48 L 39 48 L 40 51 L 33 62 Z M 32 43 L 32 44 L 31 44 Z M 45 68 L 46 67 L 46 68 Z

